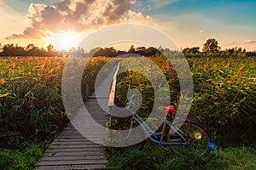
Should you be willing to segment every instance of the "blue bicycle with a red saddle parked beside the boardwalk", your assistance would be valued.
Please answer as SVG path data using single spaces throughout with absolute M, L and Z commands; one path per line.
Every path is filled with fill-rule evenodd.
M 170 122 L 167 116 L 172 115 L 175 111 L 172 105 L 159 107 L 161 111 L 165 112 L 165 118 L 160 132 L 154 132 L 137 114 L 137 105 L 133 98 L 138 96 L 141 95 L 131 95 L 126 105 L 126 110 L 131 111 L 132 114 L 130 129 L 142 126 L 143 132 L 139 133 L 146 134 L 148 139 L 159 144 L 162 149 L 166 150 L 167 154 L 171 150 L 179 156 L 208 156 L 211 150 L 216 149 L 217 145 L 212 142 L 207 128 L 202 126 L 201 123 L 189 119 L 184 120 L 183 118 Z M 199 118 L 197 117 L 197 119 Z M 129 137 L 130 133 L 128 133 L 126 139 L 129 139 Z M 136 137 L 134 136 L 134 138 Z

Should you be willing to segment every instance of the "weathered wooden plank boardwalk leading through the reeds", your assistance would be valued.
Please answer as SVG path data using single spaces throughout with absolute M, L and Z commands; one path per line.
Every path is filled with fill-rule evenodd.
M 88 101 L 85 103 L 85 107 L 87 111 L 90 112 L 90 116 L 103 126 L 108 122 L 109 115 L 102 110 L 97 102 L 97 98 L 100 98 L 100 103 L 106 104 L 105 109 L 107 109 L 110 89 L 106 89 L 106 86 L 109 81 L 113 80 L 114 69 L 116 70 L 116 66 L 113 68 L 112 73 L 99 85 L 97 95 L 91 94 Z M 98 94 L 101 96 L 99 97 Z M 77 120 L 75 121 L 79 121 L 79 116 L 84 116 L 83 110 L 78 111 L 75 116 Z M 102 138 L 102 136 L 96 133 L 94 138 Z M 69 122 L 67 127 L 64 128 L 50 145 L 49 149 L 45 151 L 44 156 L 38 161 L 38 167 L 36 167 L 36 169 L 104 169 L 107 162 L 108 153 L 105 148 L 100 144 L 96 144 L 84 138 L 84 136 L 73 127 L 72 123 Z

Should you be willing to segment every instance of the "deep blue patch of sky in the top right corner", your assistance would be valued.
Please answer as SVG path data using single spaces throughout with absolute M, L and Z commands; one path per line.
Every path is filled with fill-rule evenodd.
M 148 11 L 148 14 L 202 14 L 206 17 L 234 25 L 256 26 L 256 1 L 180 0 L 162 8 Z

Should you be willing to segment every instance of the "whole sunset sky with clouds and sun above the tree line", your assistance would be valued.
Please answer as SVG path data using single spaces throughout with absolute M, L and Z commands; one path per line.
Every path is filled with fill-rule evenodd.
M 105 26 L 137 23 L 179 48 L 208 38 L 222 49 L 256 50 L 255 0 L 0 0 L 0 42 L 71 48 Z

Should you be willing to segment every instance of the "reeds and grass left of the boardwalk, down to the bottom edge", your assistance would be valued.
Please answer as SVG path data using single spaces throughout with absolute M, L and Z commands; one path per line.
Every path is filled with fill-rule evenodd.
M 86 60 L 79 60 L 84 65 Z M 82 84 L 94 88 L 97 71 L 108 60 L 90 59 L 84 65 Z M 0 169 L 32 169 L 66 126 L 61 99 L 66 62 L 53 57 L 0 59 Z

